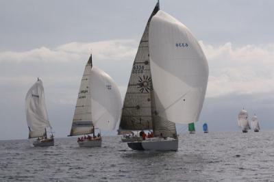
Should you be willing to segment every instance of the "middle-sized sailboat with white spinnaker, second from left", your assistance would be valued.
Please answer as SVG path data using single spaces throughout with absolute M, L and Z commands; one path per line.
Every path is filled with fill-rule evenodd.
M 79 146 L 101 146 L 101 130 L 111 131 L 116 127 L 121 107 L 118 86 L 110 75 L 92 66 L 90 55 L 79 88 L 69 136 L 84 135 L 77 140 Z M 95 129 L 99 129 L 97 135 Z

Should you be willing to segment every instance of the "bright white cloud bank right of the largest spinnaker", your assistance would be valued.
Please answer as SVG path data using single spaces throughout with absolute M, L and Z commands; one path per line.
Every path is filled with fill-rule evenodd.
M 203 44 L 210 76 L 208 97 L 274 91 L 274 44 L 219 47 Z

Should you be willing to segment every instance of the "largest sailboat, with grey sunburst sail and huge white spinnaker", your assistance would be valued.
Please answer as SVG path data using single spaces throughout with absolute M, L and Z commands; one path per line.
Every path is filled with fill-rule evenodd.
M 158 2 L 132 66 L 119 134 L 153 133 L 146 140 L 127 142 L 133 150 L 177 151 L 175 123 L 197 122 L 207 83 L 208 62 L 199 43 Z

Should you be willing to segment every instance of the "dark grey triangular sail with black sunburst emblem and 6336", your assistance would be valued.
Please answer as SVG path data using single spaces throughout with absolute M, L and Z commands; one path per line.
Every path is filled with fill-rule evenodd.
M 149 24 L 152 16 L 158 10 L 159 3 L 155 5 L 140 40 L 125 94 L 119 133 L 128 130 L 153 128 L 151 119 L 151 91 L 153 88 L 149 61 Z

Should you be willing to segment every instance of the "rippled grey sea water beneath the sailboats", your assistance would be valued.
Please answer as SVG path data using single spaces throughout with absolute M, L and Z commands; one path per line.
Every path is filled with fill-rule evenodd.
M 120 136 L 101 148 L 0 141 L 0 181 L 274 181 L 273 131 L 182 134 L 177 152 L 132 151 Z

